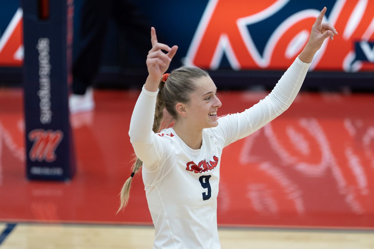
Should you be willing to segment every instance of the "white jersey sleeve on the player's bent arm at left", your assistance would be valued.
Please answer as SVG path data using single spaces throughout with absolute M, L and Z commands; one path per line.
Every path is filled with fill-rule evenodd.
M 143 86 L 130 121 L 130 142 L 147 171 L 160 166 L 168 147 L 168 141 L 152 131 L 157 93 L 158 90 L 150 92 Z

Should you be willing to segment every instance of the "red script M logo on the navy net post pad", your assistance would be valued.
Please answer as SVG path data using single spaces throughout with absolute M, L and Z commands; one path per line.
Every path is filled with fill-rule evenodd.
M 28 154 L 30 160 L 35 161 L 46 161 L 53 162 L 56 160 L 56 148 L 60 144 L 64 133 L 61 130 L 43 130 L 35 129 L 30 131 L 28 139 L 34 142 L 31 147 L 30 153 Z

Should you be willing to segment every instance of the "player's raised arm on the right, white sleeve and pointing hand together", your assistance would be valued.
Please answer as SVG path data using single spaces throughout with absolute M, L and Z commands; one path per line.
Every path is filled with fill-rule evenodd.
M 303 84 L 313 56 L 326 38 L 330 37 L 333 40 L 334 35 L 338 34 L 331 24 L 322 23 L 325 12 L 326 7 L 322 9 L 313 24 L 306 46 L 283 74 L 272 92 L 244 112 L 230 114 L 219 119 L 219 125 L 214 129 L 221 135 L 220 137 L 224 138 L 224 146 L 254 133 L 289 108 Z

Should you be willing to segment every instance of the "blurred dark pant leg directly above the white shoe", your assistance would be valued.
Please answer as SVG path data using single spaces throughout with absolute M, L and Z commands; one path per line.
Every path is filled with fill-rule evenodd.
M 73 93 L 85 94 L 98 72 L 113 0 L 83 0 L 79 45 L 73 63 Z

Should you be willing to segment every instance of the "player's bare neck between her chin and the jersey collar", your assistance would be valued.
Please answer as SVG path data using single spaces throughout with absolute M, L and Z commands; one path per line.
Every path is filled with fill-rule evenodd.
M 183 122 L 175 122 L 173 129 L 188 147 L 194 150 L 201 148 L 203 143 L 203 130 L 193 129 Z

